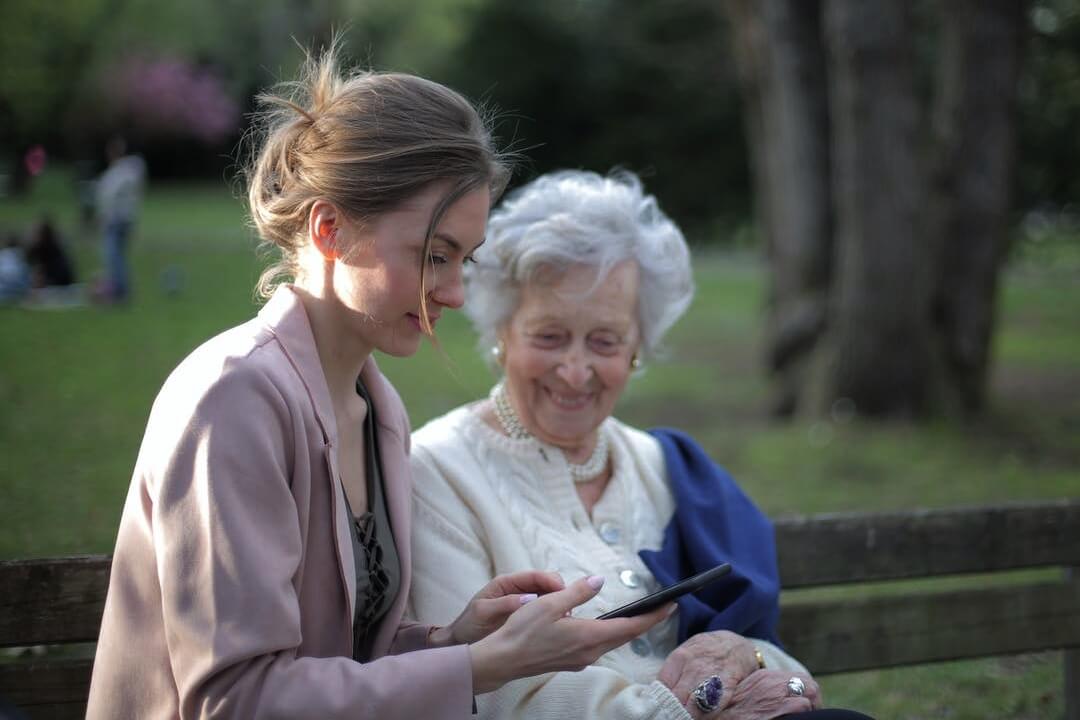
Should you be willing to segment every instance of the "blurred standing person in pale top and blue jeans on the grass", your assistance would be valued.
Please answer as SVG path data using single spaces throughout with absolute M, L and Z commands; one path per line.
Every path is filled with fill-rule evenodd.
M 132 291 L 129 244 L 146 187 L 146 162 L 139 155 L 129 154 L 127 142 L 119 135 L 109 138 L 105 155 L 108 167 L 95 189 L 105 271 L 97 299 L 125 302 Z

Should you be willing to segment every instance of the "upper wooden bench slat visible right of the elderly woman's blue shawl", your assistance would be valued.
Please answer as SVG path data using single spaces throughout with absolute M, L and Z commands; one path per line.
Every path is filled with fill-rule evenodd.
M 785 589 L 1080 566 L 1080 500 L 777 520 Z

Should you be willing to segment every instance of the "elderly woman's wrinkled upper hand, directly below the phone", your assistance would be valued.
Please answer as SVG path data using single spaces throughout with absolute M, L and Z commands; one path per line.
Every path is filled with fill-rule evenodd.
M 729 630 L 715 630 L 699 633 L 672 651 L 657 679 L 686 705 L 693 689 L 710 676 L 719 676 L 727 697 L 757 669 L 753 642 Z

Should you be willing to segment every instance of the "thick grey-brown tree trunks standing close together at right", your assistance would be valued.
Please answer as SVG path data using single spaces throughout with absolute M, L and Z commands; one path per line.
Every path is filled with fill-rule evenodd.
M 726 3 L 770 250 L 778 415 L 796 410 L 815 353 L 826 407 L 982 408 L 1026 5 L 937 9 L 927 112 L 904 0 Z

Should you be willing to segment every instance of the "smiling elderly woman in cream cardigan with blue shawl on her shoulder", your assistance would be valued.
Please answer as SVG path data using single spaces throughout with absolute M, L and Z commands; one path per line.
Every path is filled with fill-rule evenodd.
M 607 578 L 576 611 L 595 616 L 719 561 L 733 567 L 584 671 L 511 682 L 480 698 L 481 715 L 774 718 L 816 708 L 816 683 L 775 640 L 768 520 L 685 435 L 611 417 L 690 303 L 678 228 L 632 175 L 562 172 L 492 215 L 476 260 L 467 312 L 503 377 L 486 400 L 413 436 L 415 614 L 447 623 L 476 586 L 523 568 Z M 833 711 L 813 715 L 822 712 Z

